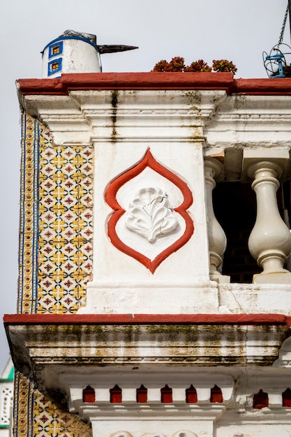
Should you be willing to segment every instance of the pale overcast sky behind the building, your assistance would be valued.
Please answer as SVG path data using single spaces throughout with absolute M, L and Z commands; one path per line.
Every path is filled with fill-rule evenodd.
M 2 165 L 0 316 L 16 312 L 20 128 L 15 80 L 40 77 L 43 47 L 64 30 L 97 35 L 97 43 L 137 45 L 104 54 L 103 71 L 151 71 L 174 56 L 186 64 L 228 59 L 236 77 L 267 77 L 262 52 L 278 43 L 288 0 L 10 0 L 0 6 Z M 290 44 L 289 22 L 285 42 Z M 280 79 L 278 79 L 280 80 Z M 0 374 L 8 346 L 0 326 Z

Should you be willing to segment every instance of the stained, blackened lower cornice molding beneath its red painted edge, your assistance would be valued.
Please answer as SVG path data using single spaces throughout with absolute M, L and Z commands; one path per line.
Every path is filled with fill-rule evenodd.
M 113 322 L 88 325 L 77 324 L 74 320 L 77 316 L 73 315 L 67 316 L 64 323 L 61 323 L 61 318 L 58 323 L 53 323 L 54 317 L 57 316 L 52 316 L 52 320 L 45 324 L 10 323 L 6 327 L 10 343 L 13 339 L 15 366 L 30 374 L 39 390 L 47 390 L 56 381 L 62 384 L 64 366 L 72 366 L 66 370 L 69 373 L 73 369 L 78 371 L 83 364 L 114 363 L 128 365 L 130 369 L 155 363 L 161 366 L 271 366 L 278 358 L 283 341 L 291 334 L 290 327 L 284 325 L 283 320 L 267 325 L 259 320 L 255 325 L 218 325 L 212 316 L 213 324 L 200 325 L 186 320 L 178 324 L 143 322 L 121 325 Z M 82 317 L 86 318 L 81 316 L 81 320 Z M 236 318 L 239 323 L 239 316 Z M 85 376 L 87 371 L 90 373 L 90 369 L 91 366 L 82 368 L 82 375 Z M 91 383 L 86 382 L 86 385 Z

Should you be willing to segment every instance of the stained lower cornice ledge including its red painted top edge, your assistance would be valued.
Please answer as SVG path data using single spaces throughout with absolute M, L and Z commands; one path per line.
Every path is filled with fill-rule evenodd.
M 14 314 L 4 316 L 4 324 L 16 369 L 45 389 L 46 366 L 60 370 L 76 364 L 272 364 L 290 336 L 291 318 L 280 314 Z M 45 381 L 49 385 L 50 379 Z

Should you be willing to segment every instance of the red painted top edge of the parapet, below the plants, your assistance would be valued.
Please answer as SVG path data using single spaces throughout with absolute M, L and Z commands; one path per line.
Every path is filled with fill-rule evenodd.
M 59 79 L 20 79 L 22 95 L 66 96 L 87 89 L 222 89 L 227 94 L 291 95 L 291 78 L 237 79 L 232 73 L 70 73 Z

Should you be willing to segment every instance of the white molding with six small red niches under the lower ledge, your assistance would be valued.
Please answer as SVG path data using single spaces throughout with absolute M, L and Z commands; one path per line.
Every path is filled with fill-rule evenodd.
M 86 403 L 82 400 L 82 387 L 87 377 L 76 380 L 75 376 L 68 373 L 65 376 L 66 393 L 70 399 L 70 411 L 77 413 L 92 424 L 93 434 L 99 429 L 101 436 L 112 435 L 112 431 L 125 429 L 127 433 L 139 437 L 151 436 L 181 436 L 186 432 L 187 437 L 193 436 L 189 431 L 190 423 L 195 422 L 197 428 L 207 429 L 208 424 L 214 422 L 222 415 L 227 406 L 233 401 L 234 378 L 219 372 L 216 376 L 195 371 L 132 371 L 124 369 L 119 373 L 119 378 L 114 375 L 114 380 L 122 387 L 121 403 L 110 402 L 110 387 L 112 387 L 112 375 L 100 371 L 95 373 L 95 381 L 91 384 L 96 392 L 96 400 Z M 154 370 L 154 369 L 153 369 Z M 100 373 L 98 375 L 98 373 Z M 136 387 L 140 381 L 147 387 L 147 402 L 138 403 L 136 399 Z M 162 399 L 164 384 L 169 384 L 172 396 L 166 401 Z M 223 399 L 219 402 L 211 401 L 211 388 L 218 384 L 223 392 Z M 197 402 L 186 401 L 186 389 L 193 384 L 197 389 Z M 168 387 L 167 387 L 168 388 Z M 126 417 L 126 422 L 124 422 Z M 106 422 L 104 422 L 106 421 Z M 200 421 L 200 423 L 199 423 Z M 106 429 L 105 429 L 106 423 Z M 100 427 L 99 427 L 100 426 Z M 119 433 L 120 431 L 115 431 Z M 195 435 L 195 434 L 194 434 Z M 183 436 L 183 434 L 182 434 Z M 185 436 L 185 437 L 186 437 Z

